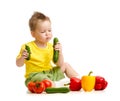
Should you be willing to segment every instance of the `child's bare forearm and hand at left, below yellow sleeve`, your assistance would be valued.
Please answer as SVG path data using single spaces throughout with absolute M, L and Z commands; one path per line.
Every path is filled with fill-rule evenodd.
M 21 56 L 16 59 L 16 65 L 21 67 L 24 65 L 24 60 L 28 57 L 27 50 L 23 50 Z

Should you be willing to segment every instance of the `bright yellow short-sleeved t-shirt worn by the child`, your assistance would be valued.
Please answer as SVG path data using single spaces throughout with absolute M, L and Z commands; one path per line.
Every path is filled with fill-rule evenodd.
M 25 77 L 27 78 L 32 72 L 50 70 L 52 68 L 51 62 L 53 59 L 53 45 L 51 43 L 47 43 L 46 48 L 39 48 L 34 41 L 27 43 L 27 45 L 30 47 L 31 57 L 30 60 L 25 60 Z M 21 56 L 23 49 L 25 49 L 25 44 L 22 45 L 21 51 L 17 58 Z

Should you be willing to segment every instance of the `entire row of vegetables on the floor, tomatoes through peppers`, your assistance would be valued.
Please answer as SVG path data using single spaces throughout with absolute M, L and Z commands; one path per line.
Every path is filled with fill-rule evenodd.
M 102 91 L 106 89 L 108 82 L 102 76 L 91 76 L 92 72 L 88 75 L 83 75 L 80 78 L 72 77 L 70 78 L 70 83 L 64 84 L 62 87 L 52 87 L 52 82 L 50 80 L 43 81 L 30 81 L 27 84 L 28 90 L 31 93 L 68 93 L 70 91 L 80 91 L 83 89 L 85 92 L 90 92 L 92 90 Z M 66 87 L 68 86 L 68 87 Z

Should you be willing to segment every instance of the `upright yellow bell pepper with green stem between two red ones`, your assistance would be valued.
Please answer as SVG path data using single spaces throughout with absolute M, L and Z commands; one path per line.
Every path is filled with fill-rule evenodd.
M 91 76 L 92 71 L 89 72 L 88 75 L 84 75 L 81 78 L 81 86 L 84 91 L 92 91 L 95 86 L 95 76 Z

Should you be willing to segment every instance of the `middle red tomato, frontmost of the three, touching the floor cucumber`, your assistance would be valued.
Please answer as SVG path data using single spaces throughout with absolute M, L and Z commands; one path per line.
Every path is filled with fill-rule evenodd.
M 35 86 L 33 87 L 33 91 L 35 93 L 42 93 L 45 90 L 45 85 L 43 82 L 35 82 Z

